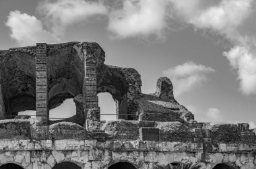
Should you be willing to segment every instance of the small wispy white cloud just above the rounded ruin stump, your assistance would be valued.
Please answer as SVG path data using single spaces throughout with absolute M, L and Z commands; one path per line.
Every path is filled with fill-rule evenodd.
M 164 70 L 163 74 L 170 77 L 174 85 L 174 95 L 178 96 L 205 82 L 207 74 L 212 72 L 215 72 L 213 68 L 194 62 L 185 62 L 174 68 Z

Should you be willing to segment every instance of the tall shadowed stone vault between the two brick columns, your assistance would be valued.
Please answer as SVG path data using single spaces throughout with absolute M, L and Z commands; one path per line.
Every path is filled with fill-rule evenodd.
M 49 121 L 50 124 L 61 121 L 84 124 L 82 60 L 73 46 L 64 46 L 49 54 L 47 60 L 49 110 L 58 107 L 66 99 L 74 99 L 76 106 L 76 115 L 63 120 Z

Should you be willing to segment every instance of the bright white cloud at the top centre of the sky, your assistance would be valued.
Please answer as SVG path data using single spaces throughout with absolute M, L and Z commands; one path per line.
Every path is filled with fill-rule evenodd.
M 119 38 L 161 36 L 166 27 L 166 0 L 125 0 L 123 8 L 110 11 L 108 30 Z

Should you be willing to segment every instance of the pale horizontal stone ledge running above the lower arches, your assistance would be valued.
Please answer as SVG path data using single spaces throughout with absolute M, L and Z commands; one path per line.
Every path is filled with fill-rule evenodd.
M 256 144 L 216 144 L 212 150 L 205 150 L 201 143 L 182 142 L 152 142 L 152 141 L 112 141 L 98 142 L 95 139 L 77 140 L 0 140 L 0 151 L 20 151 L 20 150 L 111 150 L 113 152 L 208 152 L 208 153 L 245 153 L 256 152 Z M 209 146 L 208 146 L 209 148 Z M 215 149 L 214 149 L 215 148 Z M 230 149 L 231 148 L 231 149 Z M 234 148 L 234 149 L 233 149 Z M 210 148 L 211 149 L 211 148 Z

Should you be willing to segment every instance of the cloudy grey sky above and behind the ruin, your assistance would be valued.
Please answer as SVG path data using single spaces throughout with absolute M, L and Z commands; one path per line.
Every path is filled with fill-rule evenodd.
M 253 0 L 0 0 L 0 50 L 98 42 L 106 64 L 138 70 L 143 93 L 154 93 L 158 77 L 167 76 L 197 121 L 244 121 L 252 128 L 255 23 Z M 55 114 L 75 109 L 65 103 Z M 109 113 L 113 99 L 100 95 L 100 105 Z

